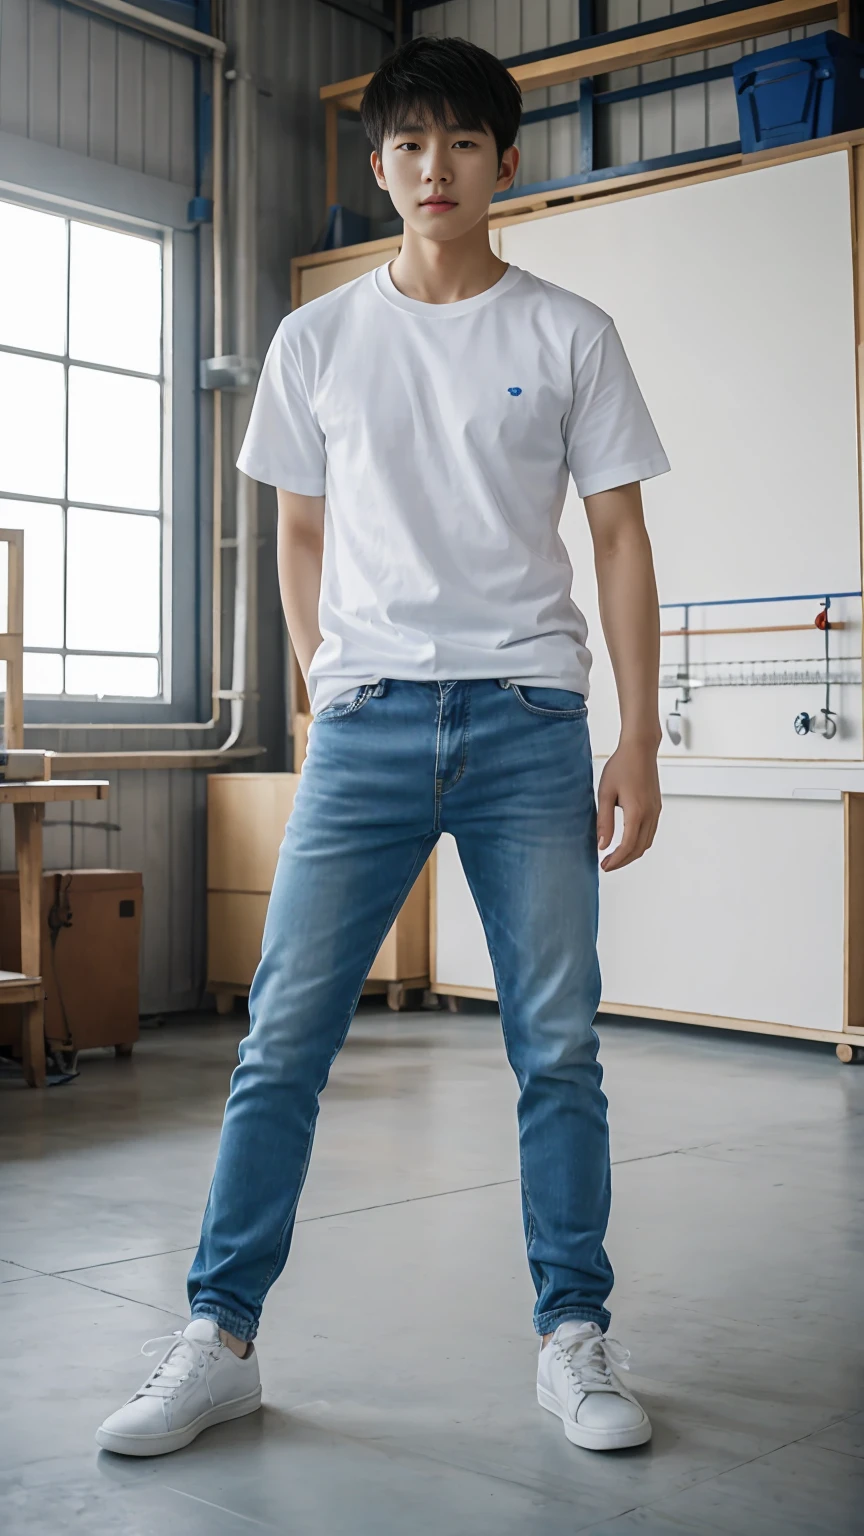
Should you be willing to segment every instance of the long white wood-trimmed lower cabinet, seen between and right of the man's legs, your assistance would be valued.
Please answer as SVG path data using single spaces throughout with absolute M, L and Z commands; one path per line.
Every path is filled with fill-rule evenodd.
M 864 1043 L 864 794 L 758 777 L 667 793 L 652 851 L 601 874 L 601 1008 Z M 434 989 L 495 997 L 452 837 L 434 888 Z

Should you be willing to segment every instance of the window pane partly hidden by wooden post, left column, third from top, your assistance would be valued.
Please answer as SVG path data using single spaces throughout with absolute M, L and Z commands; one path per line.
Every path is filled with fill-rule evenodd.
M 60 507 L 0 498 L 0 528 L 25 530 L 25 645 L 63 645 L 63 513 Z M 8 551 L 9 545 L 0 544 L 0 628 L 6 628 L 8 624 Z

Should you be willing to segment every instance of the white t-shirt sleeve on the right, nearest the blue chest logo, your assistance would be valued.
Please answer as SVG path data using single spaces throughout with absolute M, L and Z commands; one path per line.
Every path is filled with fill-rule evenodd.
M 564 444 L 583 498 L 670 467 L 613 321 L 575 370 Z

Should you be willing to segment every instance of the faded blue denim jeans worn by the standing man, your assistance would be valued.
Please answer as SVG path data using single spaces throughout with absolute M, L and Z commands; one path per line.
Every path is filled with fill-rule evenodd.
M 318 1095 L 381 940 L 447 831 L 483 919 L 520 1086 L 533 1326 L 609 1326 L 586 714 L 581 694 L 560 688 L 386 679 L 317 716 L 189 1273 L 194 1316 L 255 1336 L 287 1258 Z

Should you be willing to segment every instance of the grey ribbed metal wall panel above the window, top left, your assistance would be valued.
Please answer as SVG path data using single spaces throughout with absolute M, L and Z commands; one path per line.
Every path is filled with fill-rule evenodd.
M 194 178 L 189 54 L 58 0 L 0 0 L 0 129 Z

